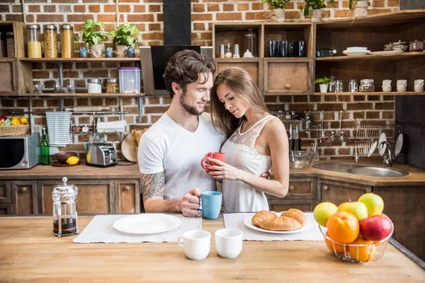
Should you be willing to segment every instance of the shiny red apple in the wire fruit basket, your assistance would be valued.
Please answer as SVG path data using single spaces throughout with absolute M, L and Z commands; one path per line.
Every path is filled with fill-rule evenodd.
M 363 238 L 370 241 L 381 241 L 391 235 L 392 223 L 387 216 L 375 215 L 360 221 Z

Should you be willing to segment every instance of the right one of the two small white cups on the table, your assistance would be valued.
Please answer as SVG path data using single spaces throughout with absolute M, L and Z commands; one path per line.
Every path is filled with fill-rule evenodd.
M 237 229 L 215 231 L 215 248 L 222 258 L 236 258 L 242 252 L 242 231 Z

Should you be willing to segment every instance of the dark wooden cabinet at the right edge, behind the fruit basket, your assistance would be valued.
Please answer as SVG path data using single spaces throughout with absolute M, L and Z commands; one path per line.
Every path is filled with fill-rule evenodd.
M 392 237 L 425 260 L 425 187 L 373 187 L 373 192 L 384 200 L 395 228 Z

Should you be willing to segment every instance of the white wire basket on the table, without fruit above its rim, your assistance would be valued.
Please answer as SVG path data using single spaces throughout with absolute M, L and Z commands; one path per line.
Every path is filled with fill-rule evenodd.
M 392 222 L 391 222 L 392 224 Z M 324 237 L 324 242 L 329 248 L 331 253 L 334 253 L 337 258 L 346 260 L 349 262 L 371 262 L 376 261 L 382 258 L 387 248 L 388 241 L 394 233 L 394 224 L 392 224 L 392 231 L 390 236 L 382 239 L 376 243 L 368 244 L 350 244 L 350 243 L 340 243 L 332 240 L 329 236 L 326 235 L 327 229 L 319 225 L 320 232 L 322 232 Z

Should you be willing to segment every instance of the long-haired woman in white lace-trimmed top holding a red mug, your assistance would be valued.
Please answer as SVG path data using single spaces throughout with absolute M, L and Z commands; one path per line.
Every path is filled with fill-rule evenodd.
M 285 197 L 289 184 L 288 136 L 283 123 L 270 113 L 251 76 L 238 67 L 222 71 L 211 93 L 213 125 L 227 134 L 221 151 L 226 162 L 208 173 L 222 180 L 226 212 L 268 210 L 268 195 Z M 274 180 L 261 178 L 273 169 Z

